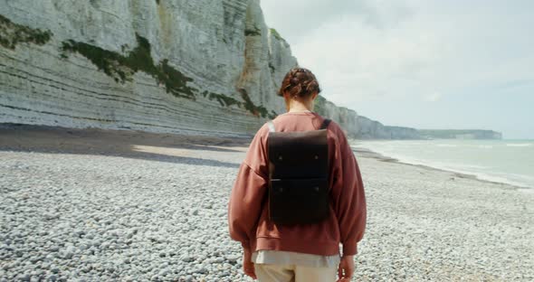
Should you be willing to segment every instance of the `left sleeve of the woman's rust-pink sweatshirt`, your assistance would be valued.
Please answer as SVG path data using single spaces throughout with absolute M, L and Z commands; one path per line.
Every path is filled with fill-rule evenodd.
M 263 198 L 267 193 L 269 176 L 264 129 L 262 127 L 256 133 L 248 148 L 228 203 L 230 237 L 240 241 L 245 249 L 250 248 L 250 240 L 255 236 Z

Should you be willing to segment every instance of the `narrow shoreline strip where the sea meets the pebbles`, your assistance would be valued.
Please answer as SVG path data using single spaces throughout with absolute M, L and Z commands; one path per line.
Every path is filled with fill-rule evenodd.
M 479 176 L 477 174 L 457 172 L 457 171 L 454 171 L 454 170 L 443 169 L 443 168 L 435 167 L 435 166 L 428 165 L 428 164 L 407 163 L 407 162 L 404 162 L 404 161 L 399 160 L 397 158 L 377 153 L 377 152 L 375 152 L 375 151 L 373 151 L 371 149 L 366 148 L 365 146 L 352 147 L 352 151 L 355 152 L 355 153 L 360 154 L 363 157 L 376 158 L 377 160 L 382 161 L 382 162 L 405 164 L 405 165 L 411 165 L 411 166 L 415 166 L 415 167 L 421 167 L 421 168 L 428 169 L 428 170 L 451 173 L 451 174 L 455 175 L 456 177 L 460 177 L 460 178 L 472 179 L 472 180 L 480 181 L 482 183 L 501 184 L 501 185 L 504 185 L 504 186 L 510 186 L 510 187 L 512 187 L 512 189 L 517 190 L 517 191 L 524 191 L 524 192 L 528 192 L 528 193 L 534 193 L 534 187 L 530 187 L 530 186 L 527 186 L 527 185 L 523 186 L 523 185 L 518 184 L 518 183 L 506 183 L 506 182 L 492 181 L 492 180 L 489 180 L 489 179 L 481 178 L 481 176 Z

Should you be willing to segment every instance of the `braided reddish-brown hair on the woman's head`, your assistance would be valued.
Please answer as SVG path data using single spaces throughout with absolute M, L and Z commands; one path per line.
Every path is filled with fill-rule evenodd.
M 310 97 L 315 92 L 320 93 L 319 82 L 310 70 L 293 68 L 281 81 L 277 95 L 283 96 L 284 92 L 289 92 L 291 97 Z

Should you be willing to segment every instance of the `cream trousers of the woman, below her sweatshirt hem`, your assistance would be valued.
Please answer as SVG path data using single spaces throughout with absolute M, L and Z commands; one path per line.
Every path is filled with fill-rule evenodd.
M 310 268 L 295 265 L 254 264 L 260 282 L 333 282 L 338 267 Z

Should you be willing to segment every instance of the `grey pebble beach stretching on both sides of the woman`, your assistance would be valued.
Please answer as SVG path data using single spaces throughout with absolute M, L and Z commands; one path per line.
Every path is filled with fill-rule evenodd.
M 0 128 L 0 281 L 253 281 L 226 221 L 248 142 Z M 353 281 L 534 280 L 534 189 L 355 154 Z

